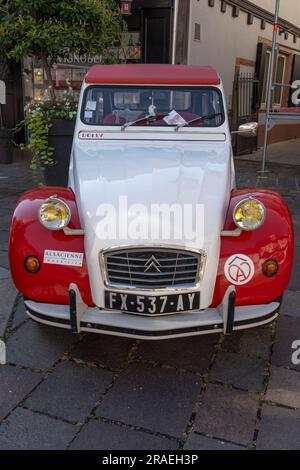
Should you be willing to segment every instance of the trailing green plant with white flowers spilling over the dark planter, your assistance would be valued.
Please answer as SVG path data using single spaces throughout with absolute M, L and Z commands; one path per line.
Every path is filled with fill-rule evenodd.
M 48 134 L 53 119 L 73 120 L 77 103 L 65 96 L 62 101 L 31 101 L 26 107 L 26 118 L 21 125 L 28 129 L 28 141 L 21 148 L 32 154 L 30 168 L 37 174 L 45 167 L 53 165 L 54 149 L 49 146 Z M 18 129 L 20 126 L 18 127 Z

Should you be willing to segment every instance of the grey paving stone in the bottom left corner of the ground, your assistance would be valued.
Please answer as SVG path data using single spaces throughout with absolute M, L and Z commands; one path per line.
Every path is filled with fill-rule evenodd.
M 0 426 L 0 450 L 63 450 L 78 428 L 17 408 Z

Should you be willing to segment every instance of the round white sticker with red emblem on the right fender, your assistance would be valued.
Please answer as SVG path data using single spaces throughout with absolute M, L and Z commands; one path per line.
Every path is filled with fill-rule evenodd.
M 242 286 L 251 281 L 254 276 L 254 263 L 249 256 L 232 255 L 225 263 L 224 273 L 227 280 L 236 286 Z

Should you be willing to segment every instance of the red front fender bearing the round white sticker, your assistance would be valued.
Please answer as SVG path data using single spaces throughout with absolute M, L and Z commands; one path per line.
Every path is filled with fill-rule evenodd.
M 280 297 L 288 286 L 294 258 L 293 223 L 284 199 L 267 190 L 234 190 L 226 216 L 224 230 L 235 230 L 232 214 L 236 204 L 247 196 L 261 201 L 266 208 L 266 218 L 254 231 L 243 231 L 239 237 L 221 237 L 220 261 L 212 306 L 217 306 L 230 285 L 225 276 L 226 260 L 234 254 L 243 254 L 254 263 L 254 276 L 243 285 L 236 285 L 237 305 L 258 305 L 272 302 Z M 277 274 L 266 277 L 262 265 L 268 259 L 276 259 Z

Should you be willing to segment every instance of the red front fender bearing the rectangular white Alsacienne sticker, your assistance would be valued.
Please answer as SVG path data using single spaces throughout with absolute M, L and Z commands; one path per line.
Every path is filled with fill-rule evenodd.
M 31 300 L 68 304 L 69 285 L 74 282 L 84 302 L 93 306 L 85 255 L 82 267 L 43 263 L 45 249 L 84 253 L 82 235 L 70 236 L 62 230 L 48 230 L 38 220 L 39 207 L 53 194 L 65 201 L 71 209 L 69 227 L 81 228 L 75 196 L 70 189 L 45 187 L 24 193 L 17 203 L 10 227 L 9 260 L 14 283 Z M 29 273 L 24 267 L 24 260 L 30 255 L 37 256 L 41 262 L 41 268 L 36 274 Z

